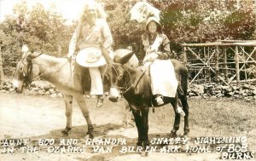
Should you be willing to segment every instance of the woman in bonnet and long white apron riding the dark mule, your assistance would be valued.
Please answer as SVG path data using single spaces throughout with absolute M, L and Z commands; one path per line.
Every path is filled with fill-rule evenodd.
M 148 70 L 151 78 L 151 90 L 157 106 L 164 104 L 164 97 L 177 99 L 177 78 L 172 65 L 170 41 L 162 32 L 160 21 L 151 16 L 146 21 L 146 32 L 142 36 L 140 55 L 144 57 L 143 68 Z M 181 106 L 176 112 L 181 116 L 185 113 Z

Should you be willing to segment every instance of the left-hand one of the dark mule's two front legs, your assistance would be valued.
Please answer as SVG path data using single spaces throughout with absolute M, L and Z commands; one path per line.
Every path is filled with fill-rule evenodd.
M 142 117 L 140 115 L 140 111 L 139 110 L 131 109 L 131 112 L 132 112 L 132 114 L 134 116 L 135 124 L 137 126 L 137 135 L 138 135 L 137 146 L 142 147 L 143 146 Z

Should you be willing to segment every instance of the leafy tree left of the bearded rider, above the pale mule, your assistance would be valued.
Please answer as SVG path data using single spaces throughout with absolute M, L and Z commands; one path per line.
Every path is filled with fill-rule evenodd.
M 46 10 L 37 3 L 28 9 L 26 2 L 14 7 L 14 14 L 6 16 L 0 29 L 9 37 L 2 45 L 3 72 L 11 76 L 20 60 L 20 47 L 27 43 L 32 50 L 39 50 L 48 55 L 67 55 L 68 43 L 73 33 L 73 26 L 67 26 L 61 14 L 52 9 Z M 62 53 L 58 53 L 62 51 Z

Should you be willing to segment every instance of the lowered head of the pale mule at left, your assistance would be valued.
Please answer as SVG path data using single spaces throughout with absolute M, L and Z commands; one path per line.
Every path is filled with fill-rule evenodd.
M 23 86 L 32 81 L 32 77 L 39 74 L 38 67 L 32 66 L 32 57 L 26 45 L 22 46 L 21 60 L 15 71 L 13 85 L 18 93 L 22 92 Z

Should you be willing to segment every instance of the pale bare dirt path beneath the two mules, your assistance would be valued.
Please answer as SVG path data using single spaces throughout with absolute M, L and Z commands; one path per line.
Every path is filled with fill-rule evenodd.
M 134 146 L 137 141 L 137 129 L 122 128 L 121 124 L 125 112 L 124 101 L 112 103 L 105 101 L 102 108 L 96 108 L 96 101 L 87 99 L 90 107 L 90 116 L 95 124 L 95 136 L 97 138 L 125 138 L 126 146 Z M 160 118 L 159 118 L 160 119 Z M 172 120 L 172 119 L 171 119 Z M 170 121 L 172 124 L 172 121 Z M 49 98 L 44 96 L 0 94 L 0 140 L 4 139 L 30 139 L 32 145 L 37 145 L 39 139 L 54 138 L 55 141 L 61 139 L 75 138 L 84 145 L 84 134 L 86 133 L 85 120 L 79 111 L 77 104 L 73 107 L 73 130 L 68 136 L 61 135 L 61 129 L 66 125 L 64 102 L 60 98 Z M 166 137 L 170 132 L 171 126 L 156 125 L 149 122 L 149 137 Z M 211 129 L 191 130 L 191 135 L 200 136 L 211 135 Z M 43 147 L 47 148 L 47 147 Z M 53 153 L 47 151 L 40 152 L 20 152 L 15 153 L 1 152 L 0 160 L 160 160 L 160 161 L 209 161 L 218 160 L 217 152 L 211 153 L 160 153 L 150 152 L 148 157 L 142 158 L 137 152 L 122 154 L 119 147 L 113 147 L 113 152 L 99 153 L 91 152 L 91 147 L 86 148 L 85 152 L 72 153 Z M 0 148 L 1 150 L 1 148 Z

